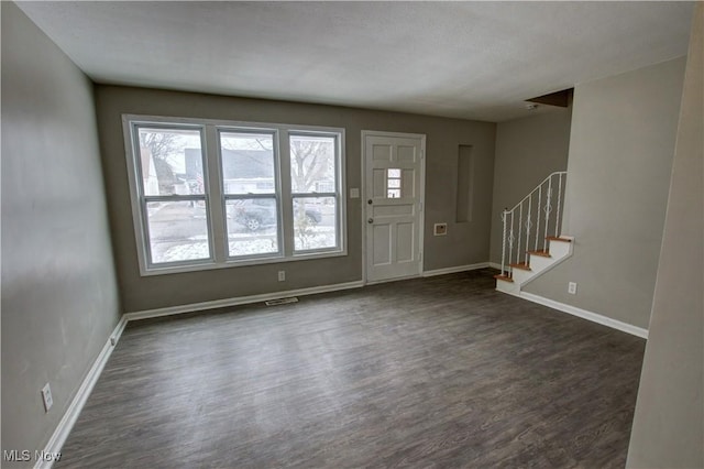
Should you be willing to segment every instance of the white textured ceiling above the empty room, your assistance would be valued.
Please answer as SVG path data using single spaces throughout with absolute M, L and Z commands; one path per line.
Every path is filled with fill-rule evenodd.
M 97 83 L 503 121 L 686 54 L 691 2 L 19 2 Z

